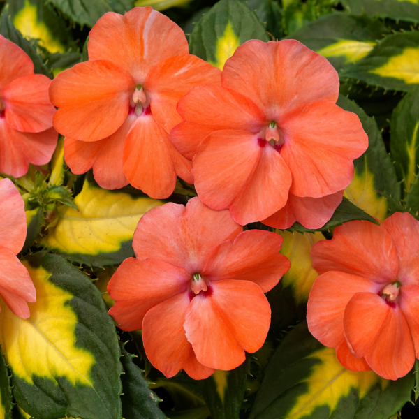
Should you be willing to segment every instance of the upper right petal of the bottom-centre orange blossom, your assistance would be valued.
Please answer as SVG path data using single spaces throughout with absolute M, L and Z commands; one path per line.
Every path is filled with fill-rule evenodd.
M 279 253 L 284 240 L 277 233 L 247 230 L 211 252 L 202 272 L 205 279 L 240 279 L 255 282 L 264 293 L 288 272 L 290 261 Z

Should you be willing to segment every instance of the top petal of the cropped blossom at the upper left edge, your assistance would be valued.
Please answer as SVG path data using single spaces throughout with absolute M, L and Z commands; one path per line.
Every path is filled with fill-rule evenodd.
M 34 74 L 32 60 L 22 48 L 0 35 L 0 89 L 29 74 Z

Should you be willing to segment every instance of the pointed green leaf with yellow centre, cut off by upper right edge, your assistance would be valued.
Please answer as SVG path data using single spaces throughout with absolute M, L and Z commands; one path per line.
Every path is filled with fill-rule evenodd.
M 411 91 L 419 84 L 419 31 L 385 36 L 367 57 L 348 66 L 341 78 Z

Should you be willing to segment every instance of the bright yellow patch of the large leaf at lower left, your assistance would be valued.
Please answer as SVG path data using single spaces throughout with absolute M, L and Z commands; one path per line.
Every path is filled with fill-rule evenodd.
M 31 316 L 26 320 L 15 316 L 3 302 L 0 311 L 0 344 L 14 376 L 33 384 L 36 375 L 56 385 L 55 378 L 65 376 L 72 385 L 91 386 L 90 371 L 96 360 L 76 346 L 78 319 L 68 304 L 73 295 L 52 284 L 52 274 L 43 267 L 26 261 L 24 265 L 36 288 L 36 302 L 29 303 Z

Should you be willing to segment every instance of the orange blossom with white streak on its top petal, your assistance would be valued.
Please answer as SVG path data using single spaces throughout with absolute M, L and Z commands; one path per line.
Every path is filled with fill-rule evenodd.
M 89 61 L 63 71 L 50 87 L 54 127 L 66 135 L 72 172 L 93 168 L 103 188 L 129 182 L 152 198 L 167 198 L 176 176 L 193 182 L 191 161 L 168 133 L 182 122 L 179 98 L 200 84 L 220 84 L 219 69 L 189 55 L 184 31 L 151 7 L 105 13 L 87 49 Z

